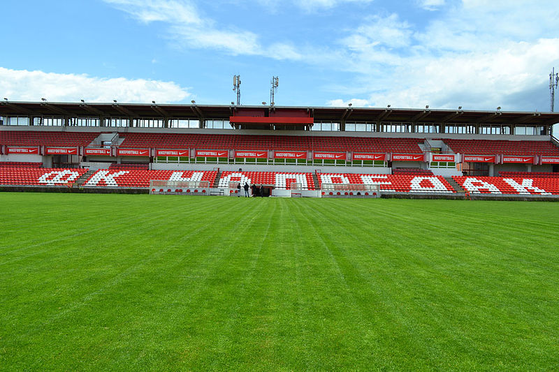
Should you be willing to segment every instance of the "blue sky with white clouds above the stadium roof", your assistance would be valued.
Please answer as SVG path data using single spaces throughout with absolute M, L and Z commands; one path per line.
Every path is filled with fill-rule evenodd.
M 5 1 L 10 101 L 549 111 L 556 1 Z M 558 94 L 559 95 L 559 94 Z

